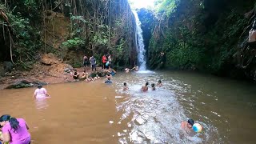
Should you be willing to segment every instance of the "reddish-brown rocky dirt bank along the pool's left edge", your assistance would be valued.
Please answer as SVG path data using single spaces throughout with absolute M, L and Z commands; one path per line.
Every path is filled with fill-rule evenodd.
M 65 72 L 70 65 L 58 64 L 57 66 L 35 66 L 30 71 L 14 71 L 7 74 L 6 77 L 0 78 L 0 90 L 6 89 L 8 86 L 12 86 L 18 82 L 39 82 L 46 84 L 74 82 L 74 78 L 71 74 Z M 75 68 L 78 74 L 82 75 L 84 68 Z M 90 68 L 86 68 L 86 72 L 90 75 L 94 72 Z M 97 67 L 97 72 L 103 72 L 101 67 Z

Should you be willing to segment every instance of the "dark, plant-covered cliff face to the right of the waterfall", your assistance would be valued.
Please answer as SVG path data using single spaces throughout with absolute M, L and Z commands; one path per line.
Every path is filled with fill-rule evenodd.
M 253 0 L 168 2 L 164 4 L 170 6 L 160 6 L 151 28 L 151 69 L 161 68 L 163 63 L 167 68 L 255 79 L 256 47 L 247 45 L 255 18 Z

